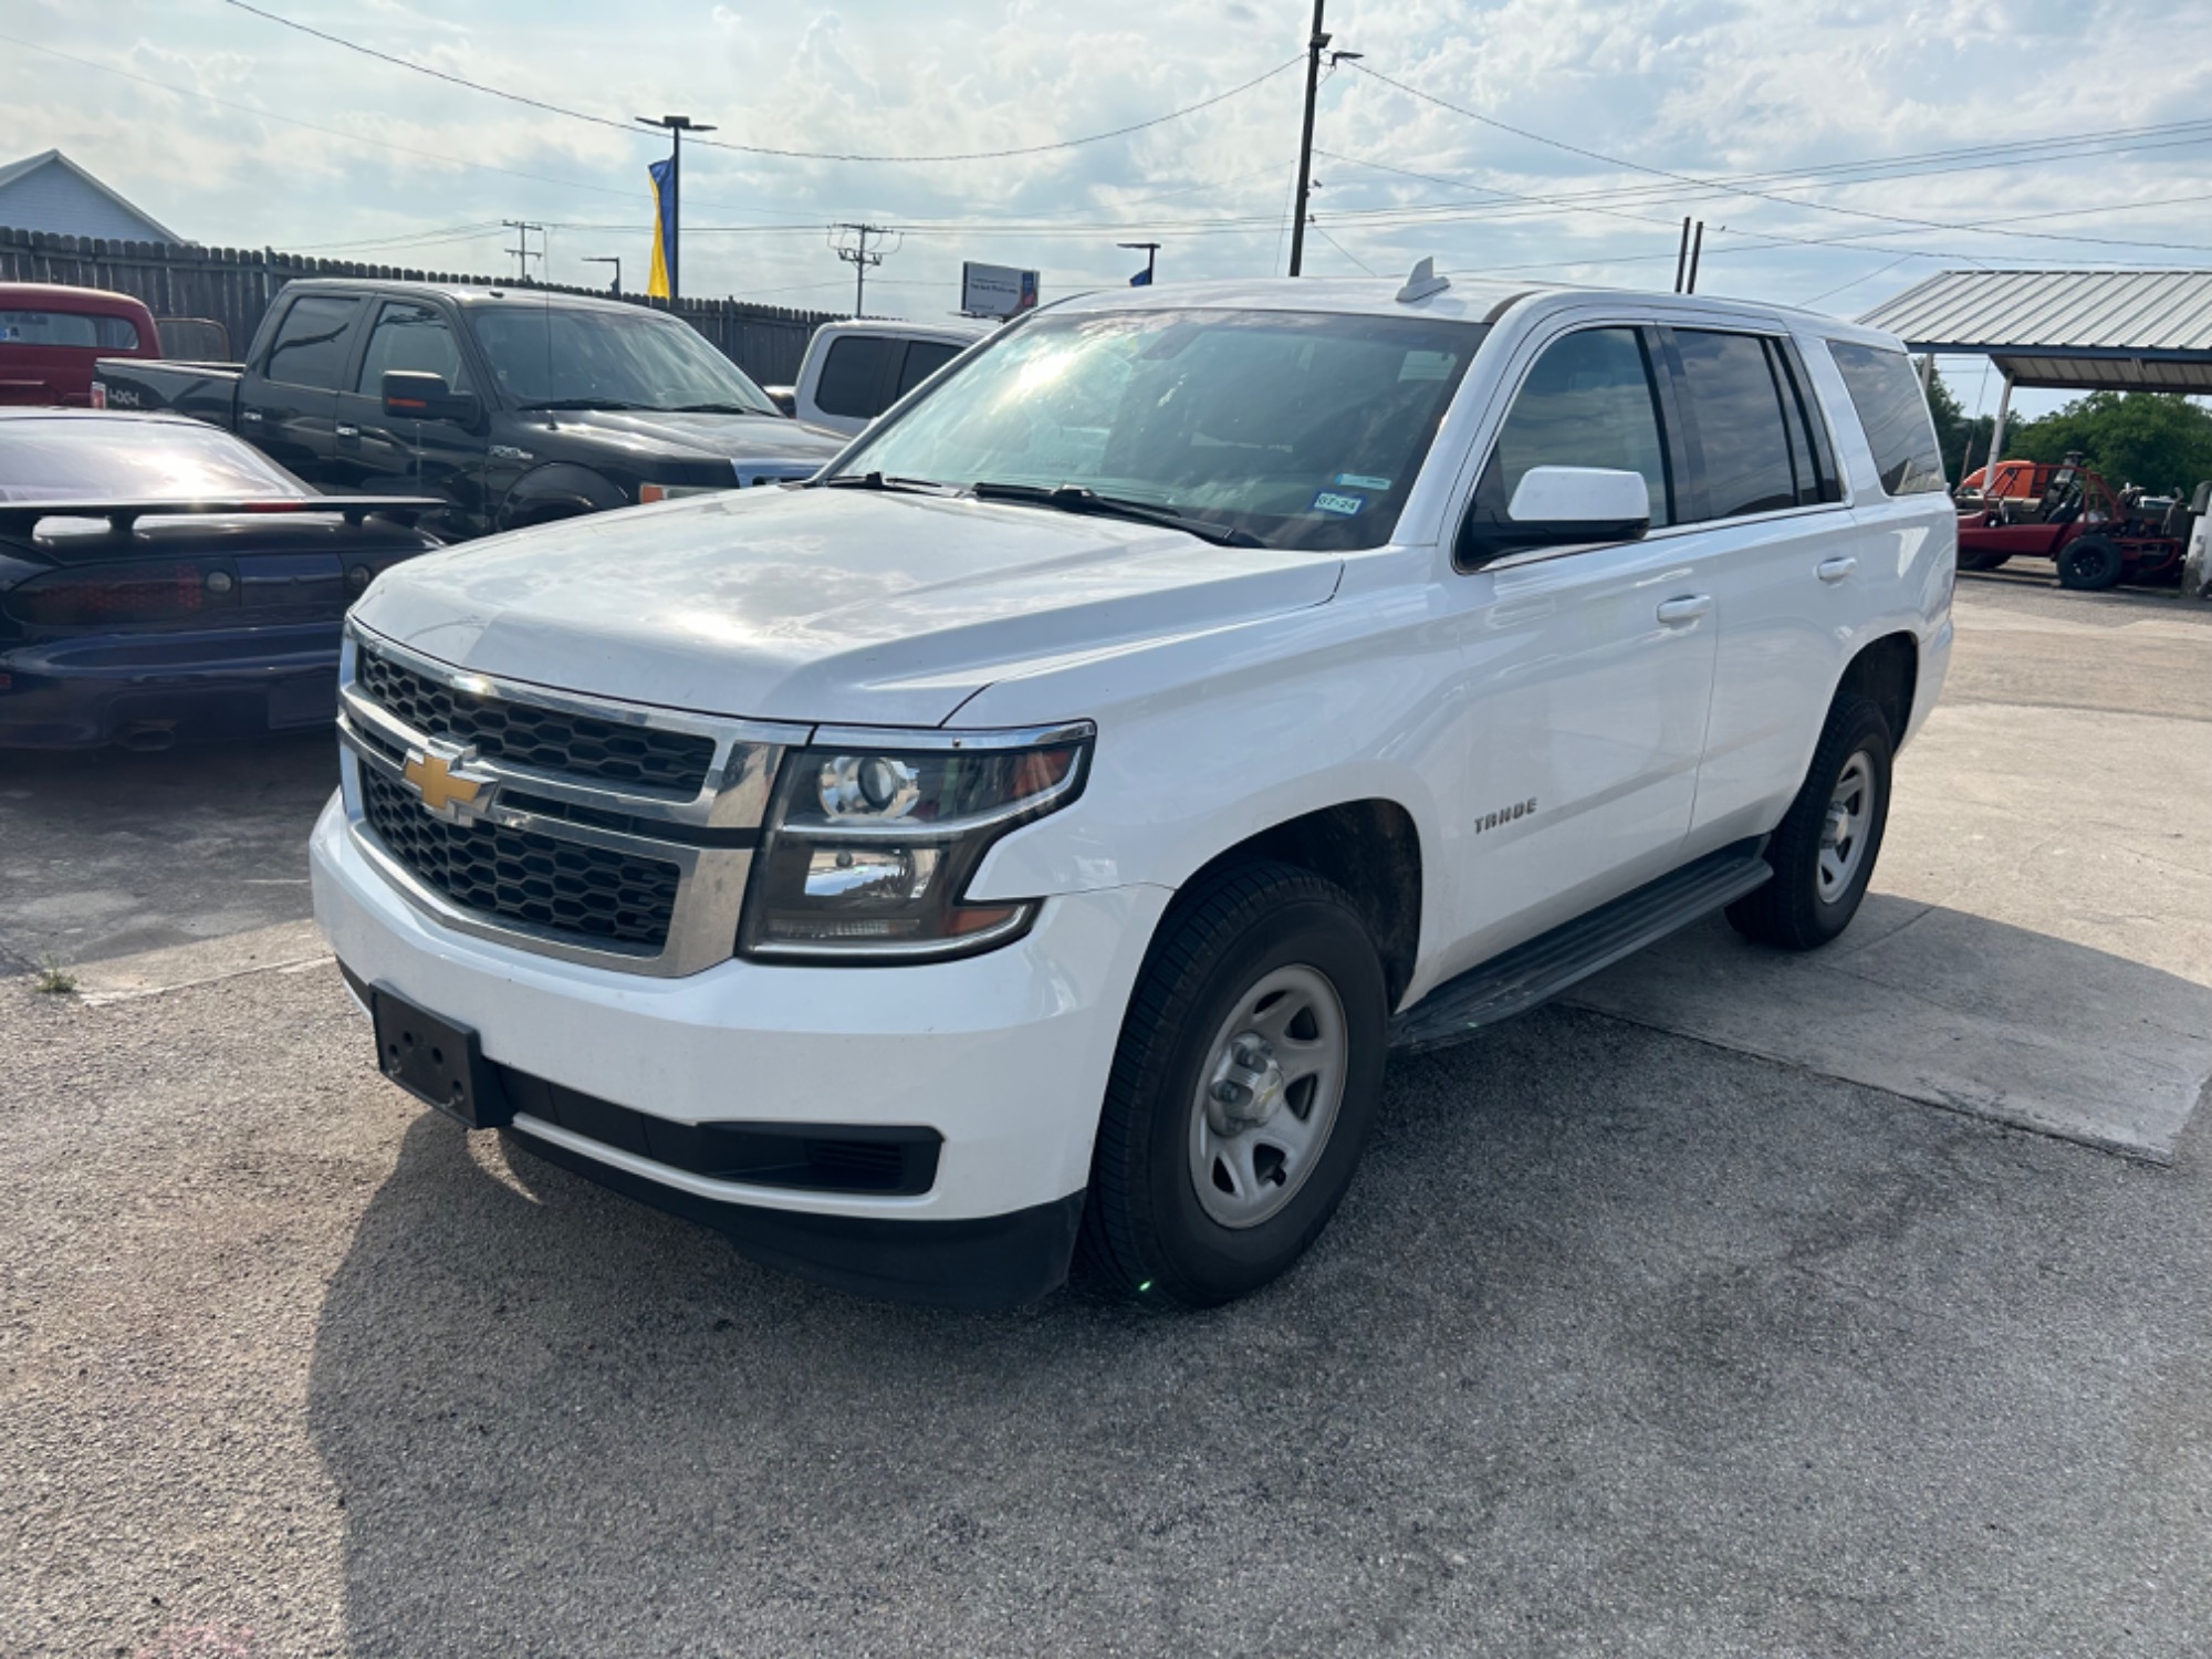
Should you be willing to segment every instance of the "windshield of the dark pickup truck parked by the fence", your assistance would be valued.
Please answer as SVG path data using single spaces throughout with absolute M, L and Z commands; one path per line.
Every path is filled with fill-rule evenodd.
M 783 418 L 690 323 L 557 305 L 469 310 L 507 400 L 529 409 L 734 409 Z

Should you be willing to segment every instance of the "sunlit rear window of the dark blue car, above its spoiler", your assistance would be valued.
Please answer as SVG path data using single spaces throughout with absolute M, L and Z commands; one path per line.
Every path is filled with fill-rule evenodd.
M 312 495 L 252 445 L 197 420 L 0 420 L 0 502 Z

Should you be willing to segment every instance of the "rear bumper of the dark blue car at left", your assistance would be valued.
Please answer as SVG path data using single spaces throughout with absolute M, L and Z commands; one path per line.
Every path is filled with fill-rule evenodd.
M 0 653 L 0 748 L 330 726 L 338 624 L 46 639 Z

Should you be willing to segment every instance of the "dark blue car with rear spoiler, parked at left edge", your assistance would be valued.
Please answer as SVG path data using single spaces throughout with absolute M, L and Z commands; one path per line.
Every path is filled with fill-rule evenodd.
M 181 416 L 0 409 L 0 748 L 327 726 L 345 608 L 438 546 L 431 507 Z

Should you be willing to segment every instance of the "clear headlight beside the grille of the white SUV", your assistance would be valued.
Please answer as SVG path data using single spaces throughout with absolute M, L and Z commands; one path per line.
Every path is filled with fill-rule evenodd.
M 785 757 L 739 949 L 911 962 L 1026 933 L 1035 900 L 971 905 L 967 885 L 993 841 L 1082 792 L 1093 728 L 852 737 Z

